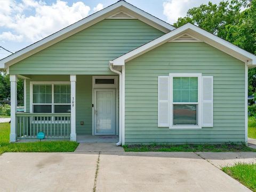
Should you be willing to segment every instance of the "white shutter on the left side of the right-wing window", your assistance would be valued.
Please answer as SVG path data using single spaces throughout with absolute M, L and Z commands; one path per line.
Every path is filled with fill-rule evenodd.
M 158 76 L 158 127 L 169 127 L 169 76 Z

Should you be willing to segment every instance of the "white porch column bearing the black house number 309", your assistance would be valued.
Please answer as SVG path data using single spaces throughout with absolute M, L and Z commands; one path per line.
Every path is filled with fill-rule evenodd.
M 71 89 L 70 141 L 76 141 L 76 75 L 70 75 L 70 89 Z

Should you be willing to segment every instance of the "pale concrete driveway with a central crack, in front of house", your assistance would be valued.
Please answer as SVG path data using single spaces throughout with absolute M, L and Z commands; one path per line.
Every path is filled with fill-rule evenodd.
M 250 191 L 201 157 L 225 161 L 225 153 L 218 154 L 5 153 L 0 156 L 0 190 Z

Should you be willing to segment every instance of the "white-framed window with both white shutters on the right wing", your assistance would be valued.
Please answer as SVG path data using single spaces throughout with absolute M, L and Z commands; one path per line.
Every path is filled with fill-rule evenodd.
M 213 127 L 213 77 L 193 73 L 158 76 L 158 127 Z

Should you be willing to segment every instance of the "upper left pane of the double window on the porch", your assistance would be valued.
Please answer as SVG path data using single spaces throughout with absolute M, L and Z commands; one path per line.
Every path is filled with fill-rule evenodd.
M 52 103 L 52 85 L 33 85 L 33 103 Z

